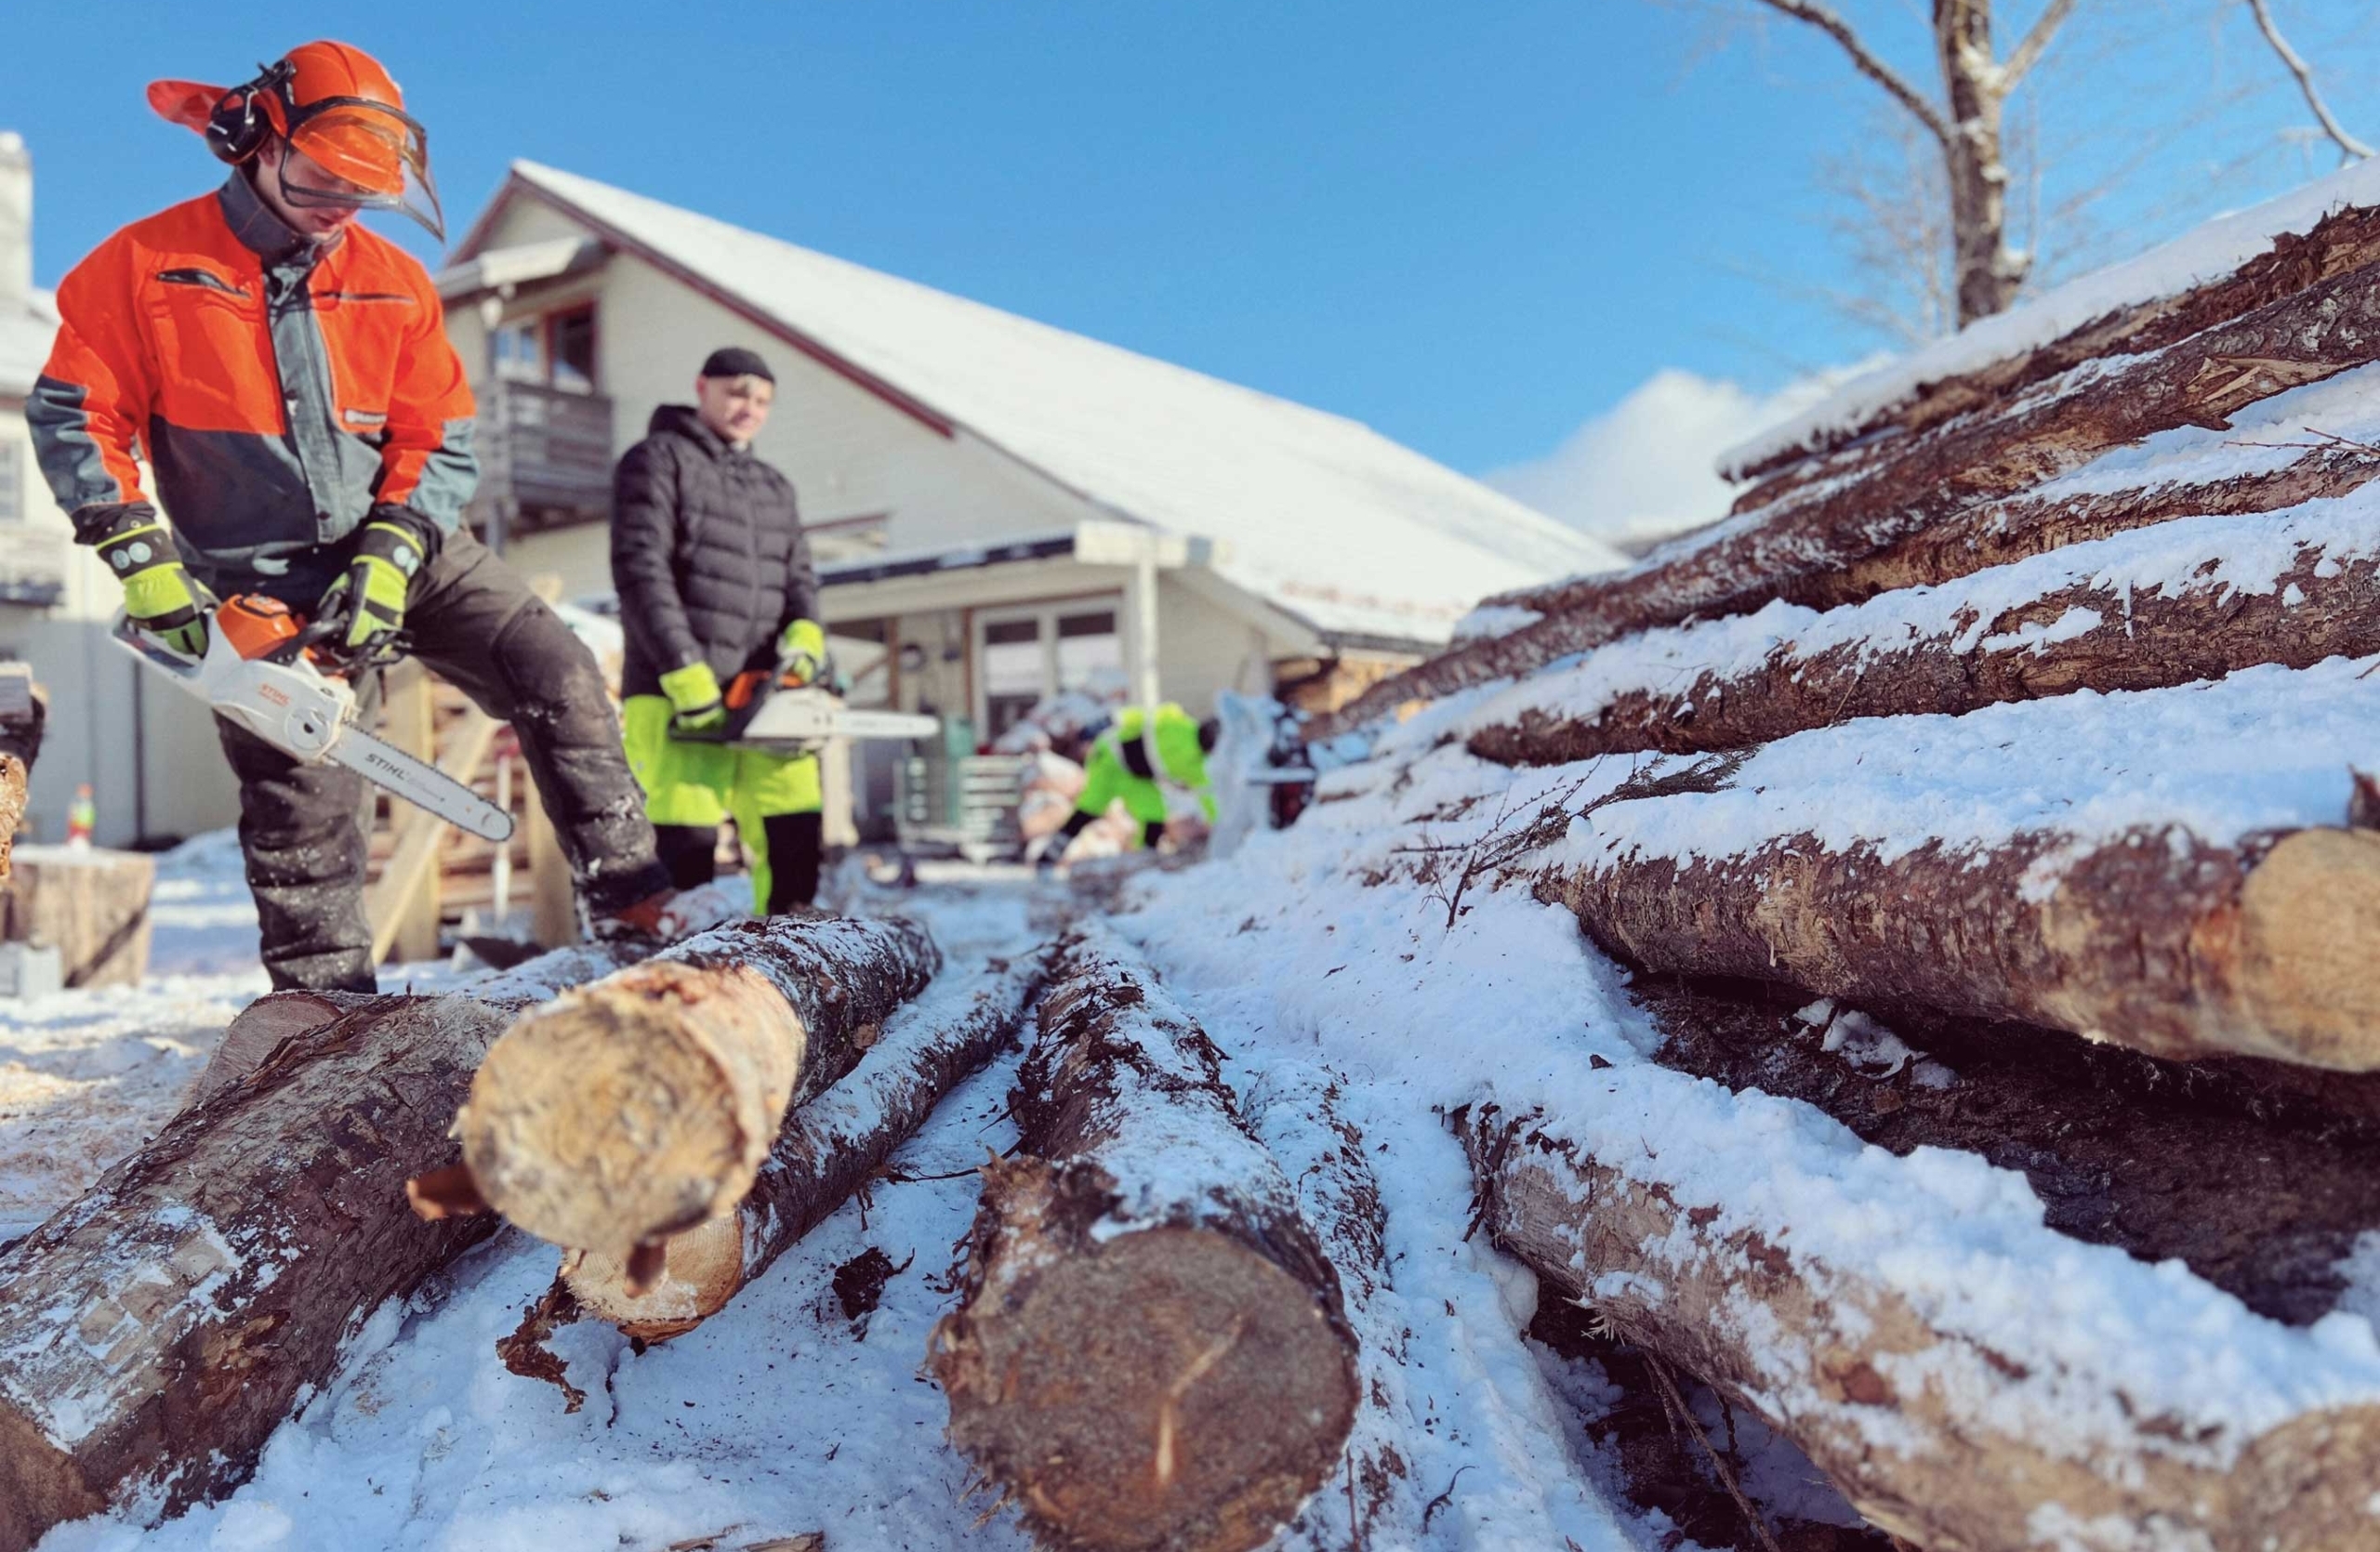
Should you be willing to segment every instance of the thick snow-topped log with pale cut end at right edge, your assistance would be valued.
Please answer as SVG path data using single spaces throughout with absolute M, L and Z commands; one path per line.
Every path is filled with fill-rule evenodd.
M 2328 828 L 2380 719 L 2368 669 L 1557 766 L 1514 802 L 1552 800 L 1559 840 L 1497 866 L 1654 971 L 2368 1071 L 2380 833 Z

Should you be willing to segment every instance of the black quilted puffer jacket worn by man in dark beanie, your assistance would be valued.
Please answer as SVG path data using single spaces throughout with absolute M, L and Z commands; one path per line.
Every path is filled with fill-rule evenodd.
M 776 662 L 795 619 L 819 619 L 793 481 L 738 452 L 693 405 L 662 405 L 612 474 L 612 586 L 628 633 L 624 695 L 659 695 L 697 657 L 721 688 Z

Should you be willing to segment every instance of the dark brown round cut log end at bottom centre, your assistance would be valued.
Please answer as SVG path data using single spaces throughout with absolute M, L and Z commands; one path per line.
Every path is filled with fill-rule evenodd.
M 1314 1293 L 1195 1228 L 1038 1269 L 1014 1307 L 947 1326 L 935 1369 L 952 1443 L 1076 1547 L 1261 1545 L 1338 1464 L 1357 1404 Z

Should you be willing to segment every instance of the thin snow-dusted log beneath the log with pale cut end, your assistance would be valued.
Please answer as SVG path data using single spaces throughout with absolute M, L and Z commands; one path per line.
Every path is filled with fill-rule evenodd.
M 745 1283 L 826 1221 L 926 1116 L 995 1052 L 1016 1040 L 1045 952 L 995 959 L 976 976 L 947 978 L 892 1014 L 883 1038 L 850 1076 L 785 1116 L 785 1131 L 735 1212 L 669 1238 L 664 1271 L 628 1293 L 628 1264 L 588 1252 L 564 1259 L 562 1281 L 585 1314 L 659 1343 L 719 1314 Z

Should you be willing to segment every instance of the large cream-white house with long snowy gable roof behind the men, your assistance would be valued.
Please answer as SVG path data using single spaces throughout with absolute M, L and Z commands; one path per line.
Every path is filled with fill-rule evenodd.
M 609 590 L 609 462 L 709 350 L 759 350 L 828 626 L 954 743 L 1116 671 L 1330 702 L 1485 593 L 1621 559 L 1342 417 L 533 162 L 440 290 L 488 521 L 574 595 Z

